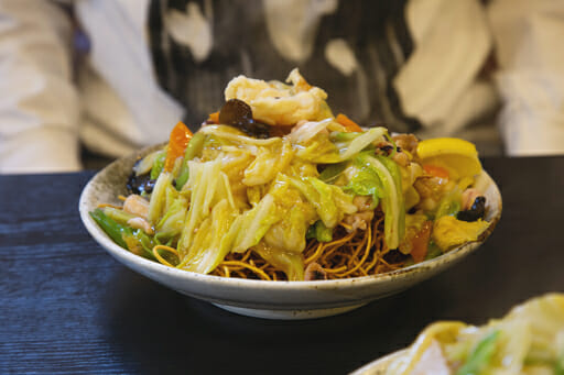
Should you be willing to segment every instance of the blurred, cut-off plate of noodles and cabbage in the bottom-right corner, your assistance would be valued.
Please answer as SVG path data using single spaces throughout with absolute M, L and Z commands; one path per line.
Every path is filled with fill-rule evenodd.
M 432 323 L 408 349 L 351 375 L 453 374 L 564 375 L 564 294 L 532 298 L 480 327 Z

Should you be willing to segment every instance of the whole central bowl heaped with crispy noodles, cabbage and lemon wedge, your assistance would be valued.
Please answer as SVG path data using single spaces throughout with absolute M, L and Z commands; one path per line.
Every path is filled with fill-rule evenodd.
M 467 141 L 357 124 L 297 69 L 238 76 L 225 98 L 80 197 L 96 241 L 182 294 L 263 318 L 335 315 L 452 265 L 501 216 Z

